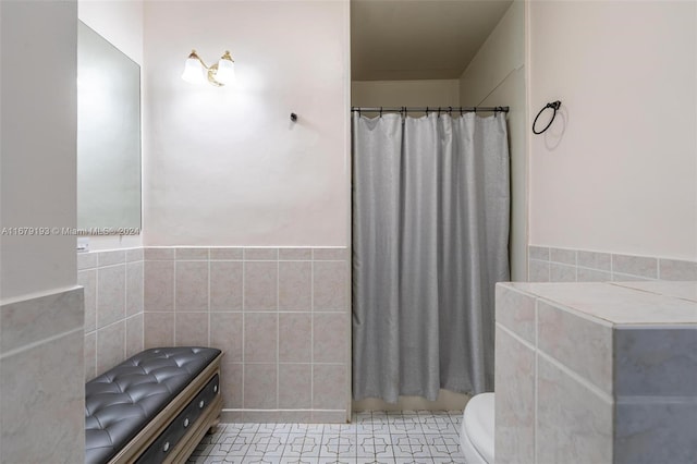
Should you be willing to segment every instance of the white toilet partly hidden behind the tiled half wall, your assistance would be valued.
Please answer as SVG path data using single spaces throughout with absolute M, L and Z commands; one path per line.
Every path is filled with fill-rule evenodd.
M 493 393 L 480 393 L 467 402 L 460 445 L 467 464 L 493 464 Z

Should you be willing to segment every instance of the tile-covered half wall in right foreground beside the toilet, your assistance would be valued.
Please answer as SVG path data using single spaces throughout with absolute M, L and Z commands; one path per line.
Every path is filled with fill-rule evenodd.
M 697 455 L 697 282 L 497 285 L 497 463 Z

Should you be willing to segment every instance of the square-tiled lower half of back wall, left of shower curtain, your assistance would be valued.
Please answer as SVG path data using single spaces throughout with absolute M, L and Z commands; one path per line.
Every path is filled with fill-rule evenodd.
M 345 422 L 346 248 L 148 247 L 145 346 L 225 352 L 227 422 Z

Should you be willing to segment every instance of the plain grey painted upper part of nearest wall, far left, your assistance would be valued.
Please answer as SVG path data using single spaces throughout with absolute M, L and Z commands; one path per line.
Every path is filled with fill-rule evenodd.
M 1 235 L 3 301 L 75 284 L 75 237 L 51 230 L 75 223 L 75 70 L 70 60 L 75 60 L 76 33 L 71 29 L 75 19 L 69 17 L 75 4 L 19 3 L 2 2 L 0 220 L 3 228 L 34 230 Z M 27 23 L 50 24 L 37 34 Z M 45 52 L 47 41 L 56 41 L 54 53 Z M 42 58 L 27 60 L 32 56 Z M 46 69 L 56 69 L 50 85 Z

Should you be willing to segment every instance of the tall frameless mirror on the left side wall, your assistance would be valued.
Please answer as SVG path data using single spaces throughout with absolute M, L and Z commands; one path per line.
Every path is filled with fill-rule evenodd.
M 77 228 L 140 228 L 140 66 L 77 30 Z M 132 232 L 131 232 L 132 233 Z

